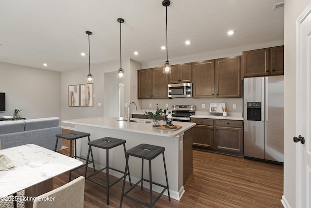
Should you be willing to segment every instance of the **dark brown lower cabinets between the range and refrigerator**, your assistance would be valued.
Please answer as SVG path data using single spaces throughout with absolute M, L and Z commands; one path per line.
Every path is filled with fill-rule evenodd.
M 243 156 L 243 121 L 191 118 L 193 149 Z

